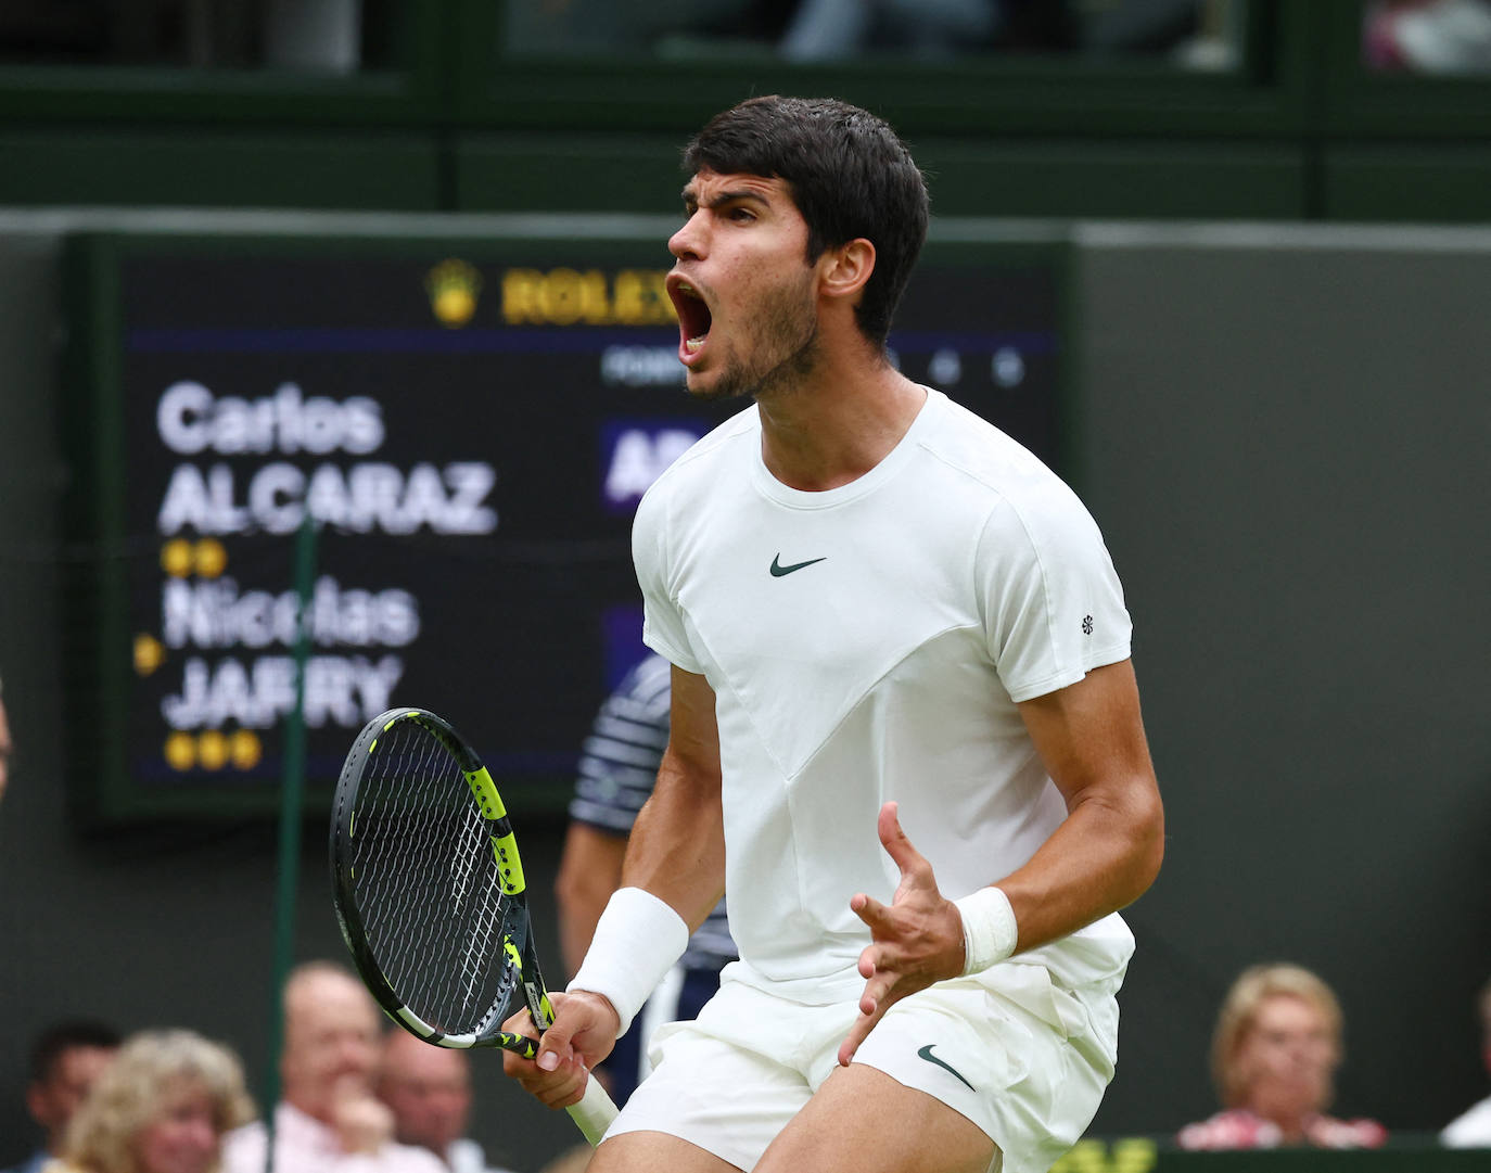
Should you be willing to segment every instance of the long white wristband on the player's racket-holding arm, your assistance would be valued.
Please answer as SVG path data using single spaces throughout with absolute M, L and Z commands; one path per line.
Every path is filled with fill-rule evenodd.
M 689 926 L 671 905 L 644 888 L 617 888 L 565 990 L 604 996 L 622 1017 L 620 1039 L 687 946 Z

